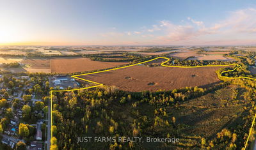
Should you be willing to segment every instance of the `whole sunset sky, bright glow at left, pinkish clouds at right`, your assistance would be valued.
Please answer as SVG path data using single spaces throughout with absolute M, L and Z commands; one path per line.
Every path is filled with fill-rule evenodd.
M 256 45 L 256 1 L 0 0 L 0 45 Z

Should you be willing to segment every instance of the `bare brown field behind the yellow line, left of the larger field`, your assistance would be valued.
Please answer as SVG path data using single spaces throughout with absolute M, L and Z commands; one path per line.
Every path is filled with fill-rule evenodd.
M 73 73 L 81 71 L 100 70 L 127 64 L 126 62 L 102 62 L 91 61 L 88 58 L 81 57 L 62 57 L 51 59 L 51 72 Z

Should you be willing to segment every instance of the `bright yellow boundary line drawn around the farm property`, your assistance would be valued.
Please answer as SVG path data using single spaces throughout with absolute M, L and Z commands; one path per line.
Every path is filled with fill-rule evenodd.
M 118 69 L 130 67 L 130 66 L 136 66 L 138 64 L 148 63 L 148 62 L 154 61 L 156 59 L 166 59 L 166 61 L 161 63 L 161 66 L 173 67 L 173 68 L 200 68 L 200 67 L 209 67 L 209 66 L 212 67 L 212 66 L 234 66 L 234 65 L 236 65 L 236 68 L 234 68 L 234 70 L 241 68 L 241 65 L 240 64 L 236 64 L 236 63 L 233 63 L 233 64 L 223 64 L 223 65 L 205 65 L 205 66 L 168 66 L 168 65 L 165 65 L 165 63 L 170 61 L 169 58 L 167 58 L 167 57 L 156 57 L 154 59 L 150 59 L 148 61 L 143 61 L 141 63 L 136 63 L 136 64 L 127 65 L 127 66 L 122 66 L 122 67 L 119 67 L 119 68 L 112 68 L 112 69 L 109 69 L 109 70 L 95 71 L 95 72 L 92 72 L 92 73 L 84 73 L 84 74 L 81 74 L 81 75 L 91 75 L 91 74 L 95 74 L 95 73 L 101 73 L 101 72 L 106 72 L 106 71 L 118 70 Z M 234 70 L 222 71 L 220 73 L 220 77 L 223 77 L 223 78 L 226 78 L 226 79 L 251 79 L 251 80 L 256 80 L 256 79 L 253 79 L 253 78 L 250 78 L 250 77 L 243 77 L 243 76 L 242 77 L 225 77 L 225 76 L 222 76 L 222 73 L 232 72 Z M 79 89 L 52 90 L 52 91 L 50 91 L 50 93 L 51 93 L 51 149 L 52 149 L 52 92 L 78 91 L 78 90 L 81 90 L 81 89 L 90 89 L 90 88 L 93 88 L 93 87 L 103 86 L 103 84 L 100 84 L 98 82 L 94 82 L 92 80 L 86 80 L 86 79 L 83 79 L 83 78 L 79 78 L 79 76 L 81 76 L 81 75 L 72 75 L 71 77 L 79 79 L 79 80 L 84 80 L 86 82 L 91 82 L 93 84 L 97 84 L 97 86 L 83 87 L 83 88 L 79 88 Z M 254 119 L 253 119 L 253 122 L 252 122 L 252 127 L 250 128 L 250 132 L 249 132 L 248 138 L 246 140 L 246 144 L 244 146 L 244 149 L 246 149 L 246 146 L 248 144 L 248 140 L 249 140 L 249 137 L 250 137 L 251 132 L 252 132 L 253 124 L 255 123 L 255 118 L 256 118 L 256 114 L 254 116 Z

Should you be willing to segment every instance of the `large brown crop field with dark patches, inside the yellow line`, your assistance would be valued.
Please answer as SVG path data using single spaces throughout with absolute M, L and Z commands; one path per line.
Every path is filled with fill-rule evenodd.
M 215 73 L 220 67 L 168 68 L 142 65 L 84 75 L 81 78 L 107 86 L 116 86 L 124 91 L 172 90 L 190 86 L 209 87 L 221 82 Z

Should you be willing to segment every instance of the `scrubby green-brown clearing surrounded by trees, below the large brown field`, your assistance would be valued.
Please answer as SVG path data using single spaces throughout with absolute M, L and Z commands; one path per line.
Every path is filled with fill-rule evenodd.
M 233 90 L 239 91 L 237 100 L 232 100 Z M 241 113 L 246 102 L 243 100 L 245 89 L 228 86 L 200 98 L 180 103 L 178 107 L 170 107 L 168 114 L 175 116 L 177 123 L 188 124 L 181 133 L 186 135 L 203 135 L 216 137 L 223 128 L 241 124 Z

